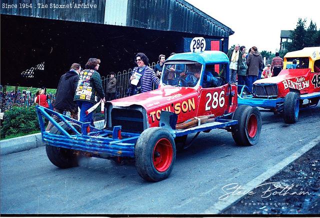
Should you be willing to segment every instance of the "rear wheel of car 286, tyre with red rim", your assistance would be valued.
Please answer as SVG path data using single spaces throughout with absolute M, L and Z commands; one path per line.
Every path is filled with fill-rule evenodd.
M 240 105 L 236 108 L 232 120 L 237 120 L 231 126 L 232 138 L 237 145 L 255 145 L 261 132 L 261 114 L 256 107 Z

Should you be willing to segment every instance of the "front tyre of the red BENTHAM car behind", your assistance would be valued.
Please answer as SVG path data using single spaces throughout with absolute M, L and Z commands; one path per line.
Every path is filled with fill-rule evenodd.
M 284 98 L 283 104 L 283 120 L 284 123 L 295 123 L 299 116 L 299 94 L 289 92 Z

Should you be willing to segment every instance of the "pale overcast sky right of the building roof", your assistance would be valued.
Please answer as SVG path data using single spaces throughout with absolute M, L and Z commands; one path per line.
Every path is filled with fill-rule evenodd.
M 186 0 L 209 16 L 230 27 L 229 47 L 275 52 L 280 47 L 280 31 L 293 30 L 298 18 L 310 19 L 320 27 L 319 0 Z

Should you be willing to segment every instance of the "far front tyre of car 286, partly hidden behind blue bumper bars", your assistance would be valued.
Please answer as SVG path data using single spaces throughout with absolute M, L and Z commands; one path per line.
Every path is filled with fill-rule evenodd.
M 66 125 L 63 122 L 60 122 L 59 125 L 61 125 L 63 129 L 66 129 Z M 73 124 L 72 126 L 80 131 L 79 125 Z M 70 133 L 70 130 L 66 129 L 66 131 Z M 50 133 L 55 135 L 62 134 L 55 126 L 51 128 Z M 78 166 L 78 155 L 74 150 L 46 145 L 45 151 L 50 162 L 56 167 L 66 169 Z

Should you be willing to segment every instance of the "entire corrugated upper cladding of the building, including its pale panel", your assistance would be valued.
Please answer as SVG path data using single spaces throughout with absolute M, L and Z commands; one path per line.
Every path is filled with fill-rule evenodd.
M 16 4 L 25 0 L 15 0 Z M 170 30 L 228 37 L 234 31 L 185 0 L 28 0 L 28 9 L 2 8 L 2 14 Z M 11 0 L 2 0 L 6 5 Z M 2 5 L 1 4 L 1 5 Z M 57 8 L 50 8 L 54 4 Z M 75 8 L 76 5 L 86 8 Z M 42 8 L 46 6 L 46 8 Z M 67 6 L 67 8 L 65 8 Z M 92 7 L 91 7 L 92 6 Z M 60 8 L 61 7 L 61 8 Z

